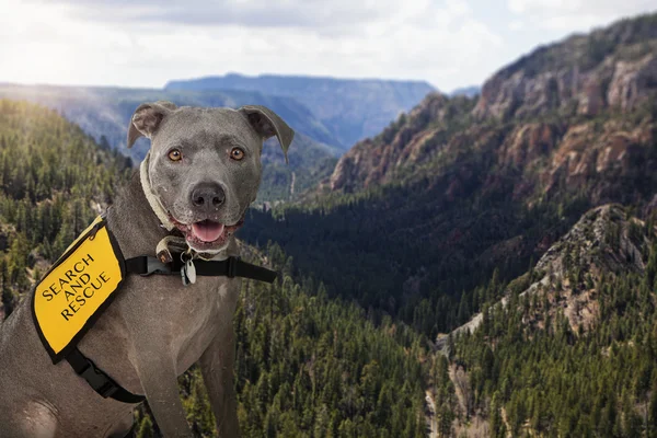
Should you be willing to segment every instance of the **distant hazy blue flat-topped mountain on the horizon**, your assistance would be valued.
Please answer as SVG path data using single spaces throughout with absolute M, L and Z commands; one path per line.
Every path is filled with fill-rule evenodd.
M 344 150 L 379 132 L 435 89 L 423 81 L 335 79 L 303 76 L 226 74 L 171 81 L 166 90 L 251 90 L 293 97 L 314 114 Z

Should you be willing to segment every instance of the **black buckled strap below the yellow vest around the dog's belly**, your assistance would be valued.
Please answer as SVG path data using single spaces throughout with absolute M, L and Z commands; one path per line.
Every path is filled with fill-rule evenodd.
M 103 370 L 96 368 L 95 364 L 84 356 L 77 347 L 66 356 L 66 360 L 78 376 L 87 380 L 87 383 L 103 399 L 114 399 L 123 403 L 141 403 L 146 400 L 143 395 L 132 394 L 116 383 Z

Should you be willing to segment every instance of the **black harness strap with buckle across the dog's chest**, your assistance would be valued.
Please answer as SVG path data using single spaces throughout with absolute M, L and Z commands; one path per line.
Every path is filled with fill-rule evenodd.
M 242 261 L 240 257 L 228 257 L 224 261 L 204 261 L 195 260 L 196 275 L 204 277 L 243 277 L 254 280 L 274 283 L 276 272 L 262 266 L 253 265 Z M 130 274 L 139 275 L 175 275 L 183 268 L 183 262 L 180 256 L 174 256 L 173 262 L 164 264 L 155 257 L 140 255 L 126 260 L 126 270 Z

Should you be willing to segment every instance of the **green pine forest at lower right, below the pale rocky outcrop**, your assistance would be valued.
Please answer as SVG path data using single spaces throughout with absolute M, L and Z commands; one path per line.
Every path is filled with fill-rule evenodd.
M 487 416 L 494 437 L 657 436 L 654 232 L 645 275 L 603 274 L 588 285 L 600 306 L 592 327 L 555 313 L 560 298 L 549 289 L 516 292 L 505 308 L 485 304 L 481 326 L 452 339 L 453 350 L 431 371 L 439 415 Z M 465 410 L 454 408 L 448 364 L 469 376 Z

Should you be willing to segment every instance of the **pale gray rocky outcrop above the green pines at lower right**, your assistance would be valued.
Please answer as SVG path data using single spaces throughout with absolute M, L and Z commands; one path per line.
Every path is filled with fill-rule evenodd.
M 563 312 L 573 332 L 589 330 L 598 315 L 597 287 L 606 276 L 626 273 L 643 274 L 650 240 L 644 221 L 629 216 L 620 205 L 597 207 L 581 219 L 539 260 L 531 273 L 509 284 L 499 304 L 508 306 L 509 297 L 543 293 L 546 309 L 538 309 L 526 323 L 543 324 L 542 315 Z M 451 332 L 452 336 L 473 333 L 483 322 L 483 313 Z M 580 328 L 581 327 L 581 328 Z M 448 346 L 448 336 L 438 335 L 438 349 Z

